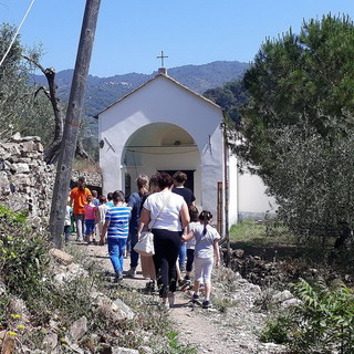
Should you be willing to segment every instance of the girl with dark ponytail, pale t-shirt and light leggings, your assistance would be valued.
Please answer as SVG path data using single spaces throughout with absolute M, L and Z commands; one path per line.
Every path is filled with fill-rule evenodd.
M 199 215 L 199 223 L 188 226 L 188 235 L 184 235 L 183 240 L 188 241 L 192 237 L 196 238 L 195 247 L 195 293 L 192 302 L 199 301 L 199 287 L 201 280 L 205 284 L 204 309 L 211 308 L 211 270 L 214 264 L 214 256 L 216 256 L 216 268 L 220 267 L 219 239 L 220 235 L 211 227 L 212 215 L 210 211 L 201 211 Z

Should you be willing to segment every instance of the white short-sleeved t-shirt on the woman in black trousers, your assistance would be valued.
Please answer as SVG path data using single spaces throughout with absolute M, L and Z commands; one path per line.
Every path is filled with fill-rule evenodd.
M 184 204 L 185 199 L 170 190 L 148 196 L 144 202 L 144 208 L 150 212 L 148 228 L 181 231 L 179 212 Z

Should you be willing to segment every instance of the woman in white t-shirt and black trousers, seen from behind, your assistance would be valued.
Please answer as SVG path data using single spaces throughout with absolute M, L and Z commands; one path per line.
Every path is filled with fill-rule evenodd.
M 160 283 L 159 295 L 166 308 L 173 306 L 176 291 L 176 261 L 178 257 L 183 229 L 189 222 L 188 207 L 185 199 L 174 192 L 171 177 L 158 173 L 157 191 L 145 200 L 140 227 L 148 225 L 154 233 L 154 263 Z

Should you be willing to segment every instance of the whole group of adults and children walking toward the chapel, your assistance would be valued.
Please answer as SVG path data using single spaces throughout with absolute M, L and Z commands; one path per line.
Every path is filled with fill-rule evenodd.
M 194 205 L 192 191 L 184 186 L 186 180 L 187 176 L 183 171 L 177 171 L 173 177 L 167 173 L 157 173 L 150 178 L 140 175 L 136 180 L 138 190 L 133 192 L 127 200 L 123 191 L 114 191 L 112 205 L 107 206 L 106 202 L 103 202 L 106 209 L 104 220 L 100 221 L 100 243 L 104 244 L 105 239 L 107 241 L 116 282 L 123 279 L 124 253 L 128 244 L 131 268 L 127 275 L 136 275 L 140 259 L 143 275 L 149 279 L 147 287 L 152 289 L 155 285 L 158 287 L 159 296 L 166 308 L 174 305 L 178 281 L 181 281 L 181 272 L 186 270 L 184 279 L 188 282 L 191 279 L 192 267 L 195 267 L 191 301 L 199 303 L 199 290 L 204 284 L 205 298 L 201 304 L 202 308 L 208 309 L 211 306 L 212 266 L 214 263 L 216 267 L 220 266 L 218 247 L 220 236 L 211 226 L 212 215 L 207 210 L 199 214 Z M 77 188 L 80 191 L 74 188 L 70 197 L 71 200 L 74 200 L 74 217 L 80 239 L 84 220 L 82 214 L 85 215 L 86 211 L 96 208 L 97 220 L 100 206 L 94 206 L 94 197 L 85 188 L 84 180 L 79 179 Z M 77 198 L 77 194 L 81 195 L 81 198 Z M 76 200 L 79 201 L 75 209 Z M 93 207 L 88 208 L 87 205 Z M 77 215 L 77 211 L 83 212 Z M 92 215 L 90 212 L 87 214 L 88 220 Z M 90 223 L 92 222 L 86 223 L 86 236 L 87 232 L 88 235 L 92 232 Z M 90 231 L 87 231 L 87 225 Z M 144 230 L 150 230 L 154 235 L 155 254 L 153 257 L 139 256 L 134 250 Z

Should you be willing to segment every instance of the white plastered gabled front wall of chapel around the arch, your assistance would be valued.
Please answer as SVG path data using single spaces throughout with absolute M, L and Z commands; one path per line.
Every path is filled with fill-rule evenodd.
M 196 168 L 195 191 L 198 204 L 216 215 L 217 183 L 222 181 L 222 134 L 219 127 L 221 118 L 222 112 L 218 106 L 163 75 L 155 77 L 98 115 L 100 139 L 105 142 L 100 149 L 103 192 L 124 189 L 125 169 L 122 156 L 125 155 L 125 146 L 135 132 L 148 125 L 153 126 L 154 123 L 174 124 L 186 131 L 198 148 L 200 166 Z M 155 140 L 158 145 L 157 137 L 149 140 Z M 191 156 L 189 158 L 191 159 Z M 176 166 L 186 169 L 188 166 L 184 167 L 183 164 L 183 159 L 168 162 L 156 159 L 156 156 L 142 157 L 142 169 L 147 175 L 156 169 L 177 169 Z

